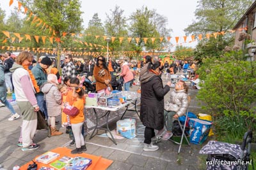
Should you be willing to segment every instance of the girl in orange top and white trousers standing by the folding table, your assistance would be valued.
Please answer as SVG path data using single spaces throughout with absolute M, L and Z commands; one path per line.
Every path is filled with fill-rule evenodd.
M 74 103 L 72 106 L 68 104 L 62 104 L 63 112 L 70 116 L 70 124 L 74 134 L 76 149 L 72 150 L 72 154 L 82 153 L 86 151 L 84 143 L 84 137 L 82 134 L 82 128 L 84 123 L 84 90 L 82 87 L 74 87 L 72 97 L 74 97 Z

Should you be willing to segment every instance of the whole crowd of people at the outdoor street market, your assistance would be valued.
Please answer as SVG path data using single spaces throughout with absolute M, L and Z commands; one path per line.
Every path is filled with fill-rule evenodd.
M 22 115 L 19 146 L 23 150 L 35 150 L 40 145 L 33 143 L 36 132 L 37 111 L 42 111 L 51 129 L 51 136 L 63 134 L 58 131 L 56 117 L 61 115 L 61 125 L 66 127 L 72 142 L 76 145 L 71 153 L 86 151 L 84 143 L 84 104 L 87 97 L 80 75 L 95 81 L 95 91 L 110 94 L 113 89 L 111 80 L 120 77 L 124 82 L 124 90 L 129 91 L 133 85 L 134 76 L 138 74 L 141 85 L 140 118 L 145 125 L 145 151 L 155 151 L 159 147 L 153 143 L 168 140 L 172 137 L 172 119 L 186 113 L 188 108 L 188 87 L 184 81 L 179 81 L 171 92 L 170 99 L 164 104 L 164 96 L 172 85 L 168 81 L 163 86 L 161 75 L 167 70 L 175 74 L 181 70 L 180 62 L 162 62 L 159 57 L 144 57 L 143 63 L 132 64 L 127 60 L 115 62 L 111 57 L 106 60 L 99 56 L 93 60 L 74 62 L 72 55 L 66 54 L 61 66 L 61 76 L 56 69 L 55 60 L 40 57 L 35 62 L 30 52 L 20 52 L 15 60 L 10 52 L 3 54 L 0 60 L 0 100 L 12 113 L 8 120 L 15 120 Z M 178 64 L 179 63 L 179 64 Z M 140 69 L 137 69 L 140 68 Z M 195 69 L 193 63 L 183 64 L 183 71 Z M 140 71 L 138 71 L 140 70 Z M 92 78 L 93 77 L 93 78 Z M 15 92 L 19 113 L 6 99 L 8 91 Z M 166 131 L 164 124 L 167 122 Z M 157 134 L 155 134 L 157 130 Z

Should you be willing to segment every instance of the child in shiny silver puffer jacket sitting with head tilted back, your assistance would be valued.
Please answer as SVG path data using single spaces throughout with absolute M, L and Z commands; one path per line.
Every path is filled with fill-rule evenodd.
M 180 80 L 176 83 L 175 90 L 171 92 L 167 103 L 164 104 L 164 117 L 167 119 L 167 125 L 163 140 L 168 140 L 172 137 L 173 118 L 185 115 L 188 110 L 188 104 L 188 85 Z

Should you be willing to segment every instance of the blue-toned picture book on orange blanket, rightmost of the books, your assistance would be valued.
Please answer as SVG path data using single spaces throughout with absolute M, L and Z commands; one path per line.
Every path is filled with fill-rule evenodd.
M 74 157 L 74 159 L 67 164 L 65 170 L 85 170 L 92 164 L 92 159 L 84 157 Z

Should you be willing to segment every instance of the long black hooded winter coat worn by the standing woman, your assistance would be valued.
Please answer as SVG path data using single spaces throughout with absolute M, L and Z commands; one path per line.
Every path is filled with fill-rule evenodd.
M 140 119 L 143 125 L 156 130 L 164 127 L 164 95 L 170 91 L 168 85 L 157 75 L 141 83 Z

